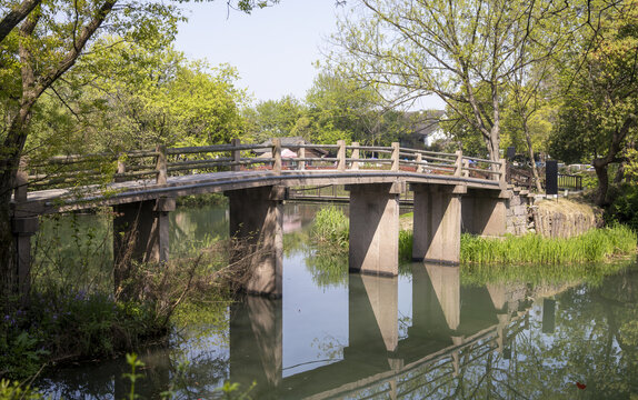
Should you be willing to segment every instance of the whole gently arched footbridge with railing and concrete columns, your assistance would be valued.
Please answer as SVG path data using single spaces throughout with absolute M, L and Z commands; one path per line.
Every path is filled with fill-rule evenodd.
M 456 153 L 391 147 L 297 143 L 166 148 L 118 154 L 63 156 L 22 162 L 12 201 L 19 286 L 28 284 L 30 236 L 38 217 L 111 206 L 116 262 L 168 259 L 168 212 L 175 198 L 223 192 L 230 233 L 248 240 L 250 292 L 281 293 L 282 202 L 288 188 L 346 184 L 350 192 L 350 269 L 398 273 L 399 194 L 415 198 L 412 257 L 457 263 L 461 221 L 482 234 L 505 232 L 506 164 Z M 461 208 L 462 198 L 462 208 Z M 266 256 L 265 256 L 266 254 Z M 117 278 L 117 277 L 116 277 Z

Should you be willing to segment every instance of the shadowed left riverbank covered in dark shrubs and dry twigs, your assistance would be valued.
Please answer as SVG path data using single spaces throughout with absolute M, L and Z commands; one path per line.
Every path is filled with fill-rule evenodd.
M 109 360 L 166 344 L 179 308 L 229 302 L 242 286 L 246 266 L 228 266 L 230 250 L 228 240 L 221 240 L 197 257 L 133 263 L 114 293 L 108 290 L 112 280 L 89 292 L 82 289 L 90 287 L 86 281 L 63 286 L 70 280 L 61 280 L 59 271 L 40 271 L 46 279 L 39 277 L 42 284 L 27 299 L 0 306 L 0 379 L 30 379 L 44 367 Z M 187 313 L 178 312 L 178 321 L 188 320 Z

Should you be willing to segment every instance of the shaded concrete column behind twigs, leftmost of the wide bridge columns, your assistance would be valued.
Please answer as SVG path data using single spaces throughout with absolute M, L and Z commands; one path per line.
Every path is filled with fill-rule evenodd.
M 170 228 L 168 213 L 173 210 L 173 198 L 114 206 L 113 258 L 116 266 L 127 264 L 130 261 L 168 261 Z M 123 277 L 116 273 L 116 287 L 120 278 Z

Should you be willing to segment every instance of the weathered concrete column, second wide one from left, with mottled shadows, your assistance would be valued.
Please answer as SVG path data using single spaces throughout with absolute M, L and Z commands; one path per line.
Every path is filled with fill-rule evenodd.
M 238 249 L 233 261 L 246 260 L 252 271 L 246 290 L 281 297 L 285 187 L 260 187 L 226 192 L 230 207 L 230 237 Z

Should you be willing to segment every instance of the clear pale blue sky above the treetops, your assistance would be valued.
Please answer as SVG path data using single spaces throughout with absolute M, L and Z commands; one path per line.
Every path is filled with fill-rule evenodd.
M 236 67 L 238 86 L 257 101 L 306 97 L 318 73 L 313 62 L 323 59 L 321 50 L 329 49 L 327 39 L 342 11 L 335 0 L 281 0 L 251 14 L 229 12 L 226 0 L 183 7 L 189 21 L 179 26 L 177 49 L 211 66 Z M 443 106 L 426 100 L 418 108 Z

